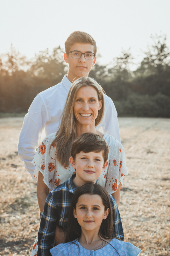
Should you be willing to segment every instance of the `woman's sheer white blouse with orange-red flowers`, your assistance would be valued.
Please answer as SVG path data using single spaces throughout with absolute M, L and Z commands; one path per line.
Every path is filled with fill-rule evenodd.
M 55 143 L 52 145 L 49 152 L 50 145 L 55 135 L 56 132 L 51 133 L 41 142 L 32 161 L 32 164 L 36 167 L 34 177 L 38 180 L 38 173 L 40 171 L 44 176 L 44 183 L 51 190 L 67 181 L 72 174 L 75 173 L 74 168 L 70 164 L 63 167 L 58 162 L 55 154 Z M 128 175 L 124 147 L 118 140 L 110 135 L 104 134 L 103 139 L 109 145 L 109 164 L 97 180 L 98 184 L 105 187 L 108 193 L 113 194 L 117 191 L 120 183 L 121 187 L 123 186 L 123 176 Z

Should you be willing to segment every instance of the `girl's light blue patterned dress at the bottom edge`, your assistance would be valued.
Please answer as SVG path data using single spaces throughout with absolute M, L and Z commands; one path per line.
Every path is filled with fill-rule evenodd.
M 96 251 L 83 248 L 77 239 L 73 242 L 75 244 L 58 244 L 53 247 L 50 249 L 52 256 L 139 256 L 141 253 L 141 250 L 133 244 L 115 238 Z

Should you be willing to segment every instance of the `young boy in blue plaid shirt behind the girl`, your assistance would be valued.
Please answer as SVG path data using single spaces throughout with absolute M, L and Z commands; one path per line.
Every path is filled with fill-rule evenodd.
M 109 147 L 107 142 L 96 133 L 83 133 L 73 143 L 70 163 L 75 169 L 72 177 L 54 188 L 47 196 L 42 212 L 38 232 L 37 256 L 51 255 L 49 249 L 53 247 L 56 226 L 65 230 L 69 207 L 73 194 L 77 188 L 87 182 L 97 182 L 97 178 L 108 165 Z M 116 201 L 110 195 L 113 210 L 113 234 L 124 239 L 122 222 Z M 64 241 L 60 240 L 60 243 Z

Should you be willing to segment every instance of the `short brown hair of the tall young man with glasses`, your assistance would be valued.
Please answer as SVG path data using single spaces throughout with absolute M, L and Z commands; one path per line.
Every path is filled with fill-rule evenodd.
M 65 51 L 69 52 L 70 47 L 75 43 L 92 44 L 94 46 L 94 53 L 97 52 L 96 41 L 84 31 L 74 31 L 68 36 L 65 42 Z

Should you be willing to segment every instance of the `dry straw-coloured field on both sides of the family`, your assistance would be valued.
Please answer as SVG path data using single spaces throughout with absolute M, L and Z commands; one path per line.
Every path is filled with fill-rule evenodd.
M 30 255 L 39 228 L 36 182 L 18 158 L 23 117 L 0 118 L 0 255 Z M 119 211 L 124 241 L 170 255 L 170 119 L 119 118 L 129 176 Z

